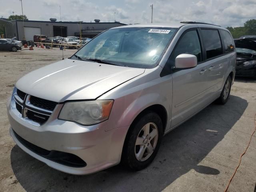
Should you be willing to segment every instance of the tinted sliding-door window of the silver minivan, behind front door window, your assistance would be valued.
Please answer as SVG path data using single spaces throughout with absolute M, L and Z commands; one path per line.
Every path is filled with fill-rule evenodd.
M 222 46 L 218 30 L 202 29 L 201 33 L 206 49 L 206 59 L 222 55 Z

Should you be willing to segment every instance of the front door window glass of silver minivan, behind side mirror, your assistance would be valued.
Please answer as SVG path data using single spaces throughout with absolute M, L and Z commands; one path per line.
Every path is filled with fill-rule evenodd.
M 174 66 L 175 58 L 183 53 L 195 55 L 198 62 L 202 61 L 202 51 L 196 30 L 188 31 L 182 36 L 170 56 L 171 66 Z

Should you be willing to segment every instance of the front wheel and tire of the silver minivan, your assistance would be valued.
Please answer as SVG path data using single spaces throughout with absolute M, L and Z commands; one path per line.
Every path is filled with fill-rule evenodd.
M 126 135 L 122 164 L 135 171 L 146 168 L 154 160 L 162 136 L 163 124 L 158 114 L 148 111 L 138 116 Z

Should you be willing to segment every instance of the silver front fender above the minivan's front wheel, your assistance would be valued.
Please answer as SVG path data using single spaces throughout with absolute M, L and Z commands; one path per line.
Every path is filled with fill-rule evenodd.
M 165 108 L 167 112 L 166 128 L 170 127 L 172 106 L 172 83 L 170 77 L 166 76 L 146 82 L 128 92 L 130 94 L 124 94 L 114 100 L 106 131 L 130 126 L 140 112 L 156 104 Z

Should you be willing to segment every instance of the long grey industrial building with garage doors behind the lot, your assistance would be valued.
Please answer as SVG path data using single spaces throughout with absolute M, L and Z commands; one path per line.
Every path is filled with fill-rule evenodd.
M 100 22 L 95 19 L 94 22 L 59 22 L 51 18 L 50 21 L 33 20 L 12 20 L 0 19 L 0 23 L 5 28 L 5 38 L 16 36 L 17 40 L 33 41 L 34 35 L 42 34 L 52 36 L 80 36 L 93 38 L 104 30 L 112 27 L 123 26 L 126 24 L 120 22 Z

